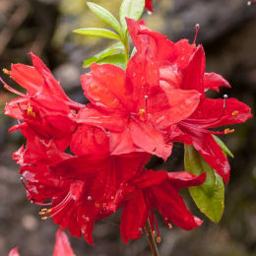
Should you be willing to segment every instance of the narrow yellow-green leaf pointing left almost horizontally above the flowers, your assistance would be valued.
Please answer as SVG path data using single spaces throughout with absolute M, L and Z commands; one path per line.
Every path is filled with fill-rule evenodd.
M 116 32 L 111 32 L 105 29 L 98 29 L 98 28 L 87 28 L 87 29 L 79 29 L 75 30 L 74 32 L 80 33 L 83 35 L 91 35 L 91 36 L 99 36 L 109 39 L 121 40 L 119 35 Z

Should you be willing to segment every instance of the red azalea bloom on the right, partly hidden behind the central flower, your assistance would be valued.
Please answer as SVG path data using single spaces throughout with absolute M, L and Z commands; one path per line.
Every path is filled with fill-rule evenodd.
M 212 132 L 208 129 L 244 122 L 251 117 L 250 108 L 235 98 L 205 97 L 205 91 L 208 89 L 219 91 L 220 86 L 230 86 L 221 75 L 205 73 L 205 53 L 201 45 L 196 46 L 195 41 L 189 44 L 184 39 L 173 43 L 159 32 L 151 32 L 143 22 L 127 19 L 127 24 L 138 51 L 142 51 L 145 41 L 151 41 L 152 51 L 156 52 L 158 58 L 160 87 L 164 92 L 176 88 L 201 93 L 196 111 L 167 131 L 168 141 L 193 144 L 227 182 L 229 163 L 212 134 L 226 134 L 232 130 Z

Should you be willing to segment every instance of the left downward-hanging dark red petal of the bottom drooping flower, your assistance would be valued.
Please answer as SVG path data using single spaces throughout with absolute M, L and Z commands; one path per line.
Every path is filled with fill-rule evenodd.
M 147 221 L 147 207 L 142 190 L 137 190 L 124 206 L 120 231 L 123 241 L 139 238 Z

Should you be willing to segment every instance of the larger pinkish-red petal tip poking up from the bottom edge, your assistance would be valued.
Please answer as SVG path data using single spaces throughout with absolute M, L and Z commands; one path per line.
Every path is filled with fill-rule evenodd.
M 68 236 L 61 229 L 56 232 L 53 256 L 75 256 Z

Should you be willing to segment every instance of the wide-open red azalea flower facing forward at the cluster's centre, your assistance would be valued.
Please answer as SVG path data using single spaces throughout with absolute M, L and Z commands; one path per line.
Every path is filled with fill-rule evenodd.
M 145 151 L 166 160 L 171 144 L 160 129 L 185 119 L 196 109 L 196 91 L 160 88 L 159 71 L 147 44 L 128 63 L 126 72 L 110 64 L 91 66 L 82 76 L 85 96 L 92 104 L 79 111 L 78 122 L 110 132 L 112 155 Z

